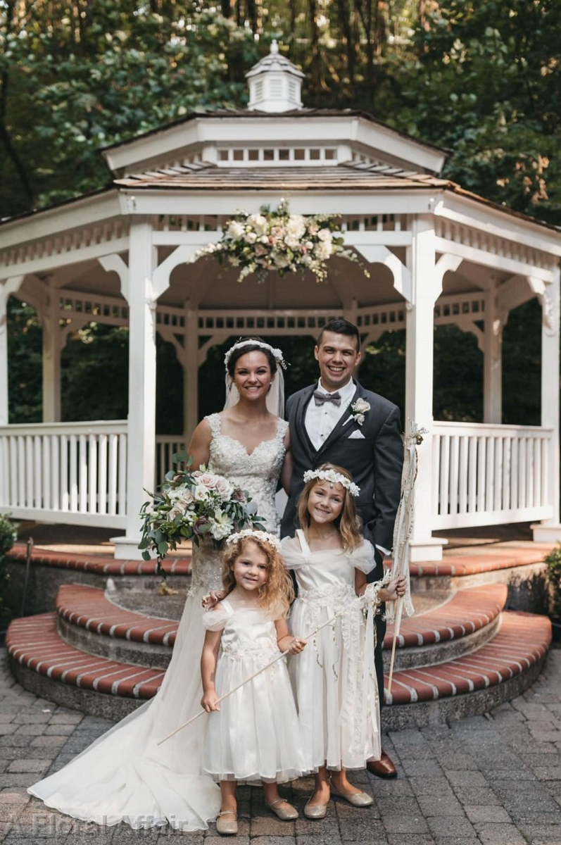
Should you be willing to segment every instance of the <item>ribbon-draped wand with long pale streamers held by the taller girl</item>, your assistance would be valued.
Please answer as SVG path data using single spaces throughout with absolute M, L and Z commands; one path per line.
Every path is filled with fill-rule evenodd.
M 415 482 L 417 481 L 417 446 L 422 444 L 422 435 L 427 434 L 426 428 L 419 428 L 417 423 L 408 420 L 409 432 L 403 441 L 404 461 L 401 473 L 401 497 L 395 516 L 394 526 L 394 562 L 391 567 L 391 580 L 406 577 L 405 595 L 398 598 L 397 607 L 390 605 L 386 610 L 386 619 L 394 622 L 394 641 L 391 646 L 389 661 L 388 692 L 391 692 L 391 681 L 394 675 L 395 646 L 400 635 L 401 616 L 405 609 L 406 616 L 412 616 L 415 608 L 411 602 L 411 579 L 409 575 L 409 540 L 415 522 Z

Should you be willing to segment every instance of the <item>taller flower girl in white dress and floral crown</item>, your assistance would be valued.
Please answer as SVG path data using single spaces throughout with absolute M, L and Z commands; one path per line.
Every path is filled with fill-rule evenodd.
M 308 818 L 323 818 L 330 792 L 357 807 L 373 803 L 353 787 L 346 769 L 364 769 L 380 758 L 380 709 L 374 668 L 373 615 L 379 602 L 405 591 L 405 579 L 367 586 L 374 550 L 360 534 L 353 498 L 360 492 L 346 470 L 324 464 L 306 472 L 298 500 L 301 529 L 282 541 L 286 567 L 298 593 L 290 625 L 308 639 L 322 622 L 340 614 L 291 662 L 307 771 L 315 773 Z M 365 619 L 364 609 L 369 608 Z M 327 770 L 330 769 L 330 779 Z

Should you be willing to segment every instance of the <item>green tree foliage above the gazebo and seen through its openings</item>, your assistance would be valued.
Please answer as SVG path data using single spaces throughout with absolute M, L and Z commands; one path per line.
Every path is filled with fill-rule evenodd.
M 184 117 L 245 106 L 244 73 L 270 39 L 307 74 L 308 106 L 359 107 L 449 148 L 445 173 L 500 204 L 561 222 L 558 0 L 3 0 L 0 216 L 111 180 L 99 147 Z M 505 422 L 539 421 L 539 309 L 504 333 Z M 10 420 L 41 418 L 41 326 L 10 301 Z M 308 384 L 312 340 L 281 338 L 287 392 Z M 92 324 L 63 352 L 63 418 L 125 417 L 126 330 Z M 118 352 L 118 354 L 117 354 Z M 200 412 L 215 411 L 223 350 L 201 368 Z M 112 379 L 106 378 L 111 367 Z M 401 407 L 405 336 L 365 351 L 360 378 Z M 210 380 L 209 380 L 210 379 Z M 157 420 L 182 428 L 181 368 L 158 341 Z M 207 407 L 207 403 L 210 405 Z M 471 335 L 435 332 L 435 416 L 480 420 L 482 357 Z

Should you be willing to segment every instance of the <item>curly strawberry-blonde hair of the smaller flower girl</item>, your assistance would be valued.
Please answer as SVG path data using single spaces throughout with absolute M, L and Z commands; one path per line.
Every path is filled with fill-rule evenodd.
M 291 603 L 294 601 L 294 586 L 292 586 L 291 576 L 285 569 L 280 553 L 270 542 L 266 542 L 259 537 L 242 537 L 241 540 L 226 545 L 221 554 L 224 589 L 226 593 L 230 593 L 236 586 L 234 564 L 243 553 L 245 544 L 249 541 L 254 542 L 259 551 L 264 553 L 269 564 L 267 579 L 258 590 L 259 604 L 269 609 L 271 613 L 278 613 L 279 617 L 285 619 Z

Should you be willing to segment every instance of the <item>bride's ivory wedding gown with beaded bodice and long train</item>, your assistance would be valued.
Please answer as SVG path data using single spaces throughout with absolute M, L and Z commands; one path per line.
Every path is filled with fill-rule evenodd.
M 249 454 L 221 433 L 218 414 L 207 419 L 212 430 L 209 468 L 247 490 L 259 504 L 264 525 L 278 534 L 275 492 L 288 423 L 279 419 L 275 438 L 262 441 Z M 200 710 L 201 598 L 215 589 L 221 589 L 221 563 L 205 542 L 193 547 L 192 585 L 157 695 L 28 792 L 49 807 L 99 825 L 125 821 L 133 828 L 166 822 L 183 831 L 208 827 L 220 810 L 221 794 L 200 768 L 207 717 L 157 743 Z

